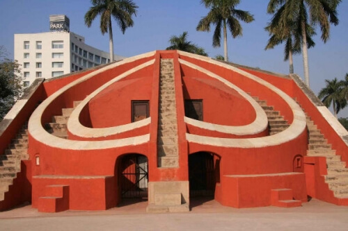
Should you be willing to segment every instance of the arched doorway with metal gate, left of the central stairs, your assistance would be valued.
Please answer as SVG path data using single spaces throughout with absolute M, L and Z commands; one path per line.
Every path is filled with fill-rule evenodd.
M 148 158 L 129 154 L 120 160 L 121 198 L 148 199 Z

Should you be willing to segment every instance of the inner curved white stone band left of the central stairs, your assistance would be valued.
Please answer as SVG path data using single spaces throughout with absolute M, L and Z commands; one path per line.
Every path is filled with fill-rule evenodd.
M 94 92 L 89 94 L 84 101 L 81 101 L 79 105 L 72 111 L 70 114 L 70 117 L 68 119 L 68 130 L 73 135 L 76 135 L 78 137 L 85 137 L 85 138 L 96 138 L 96 137 L 107 137 L 110 135 L 116 135 L 122 132 L 127 132 L 129 130 L 134 130 L 135 128 L 141 128 L 143 126 L 147 126 L 151 123 L 151 117 L 148 117 L 146 119 L 143 119 L 141 121 L 136 121 L 134 123 L 128 123 L 120 126 L 114 126 L 110 128 L 88 128 L 86 126 L 83 126 L 79 121 L 79 115 L 81 114 L 81 111 L 84 109 L 84 107 L 88 104 L 88 102 L 93 99 L 97 94 L 102 92 L 106 87 L 109 87 L 113 83 L 118 82 L 119 80 L 122 80 L 122 78 L 125 78 L 129 76 L 129 74 L 133 74 L 136 71 L 139 71 L 140 69 L 143 69 L 145 67 L 148 67 L 150 65 L 153 65 L 155 60 L 150 60 L 148 62 L 143 63 L 142 65 L 139 65 L 137 67 L 134 67 L 133 69 L 130 69 L 129 71 L 125 71 L 124 73 L 120 74 L 116 78 L 113 78 L 112 80 L 109 80 L 109 82 L 105 83 L 98 89 L 96 89 Z

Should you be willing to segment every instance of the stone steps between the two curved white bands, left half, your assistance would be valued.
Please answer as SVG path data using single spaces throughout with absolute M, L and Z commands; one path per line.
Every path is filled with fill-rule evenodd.
M 79 105 L 81 101 L 74 101 L 74 108 Z M 56 137 L 68 139 L 67 123 L 74 108 L 62 108 L 62 114 L 52 117 L 52 123 L 46 123 L 45 128 L 47 132 Z

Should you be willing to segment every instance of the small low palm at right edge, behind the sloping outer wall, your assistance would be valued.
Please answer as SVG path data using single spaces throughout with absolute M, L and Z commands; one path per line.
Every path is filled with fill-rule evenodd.
M 327 108 L 333 105 L 333 114 L 337 118 L 338 112 L 347 105 L 347 99 L 342 97 L 342 81 L 338 81 L 337 78 L 333 80 L 325 80 L 326 87 L 320 90 L 318 98 L 322 99 L 324 105 Z

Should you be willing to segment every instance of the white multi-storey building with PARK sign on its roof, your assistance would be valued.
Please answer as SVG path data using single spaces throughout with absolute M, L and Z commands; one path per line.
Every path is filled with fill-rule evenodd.
M 108 63 L 109 58 L 109 53 L 88 46 L 84 37 L 66 30 L 15 34 L 15 60 L 22 65 L 25 86 L 35 78 L 52 78 Z

